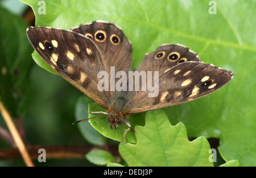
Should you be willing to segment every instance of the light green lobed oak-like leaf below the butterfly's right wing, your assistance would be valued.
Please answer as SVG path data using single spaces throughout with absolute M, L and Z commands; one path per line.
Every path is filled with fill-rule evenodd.
M 137 144 L 119 144 L 129 166 L 213 166 L 207 139 L 189 142 L 183 123 L 172 126 L 162 110 L 148 111 L 145 122 L 135 127 Z

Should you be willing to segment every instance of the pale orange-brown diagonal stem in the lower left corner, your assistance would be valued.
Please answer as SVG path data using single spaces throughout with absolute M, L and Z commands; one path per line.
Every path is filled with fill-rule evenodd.
M 30 159 L 30 156 L 28 155 L 26 146 L 24 145 L 22 138 L 20 138 L 18 130 L 16 129 L 16 126 L 14 125 L 13 120 L 11 119 L 10 113 L 5 109 L 5 106 L 3 106 L 1 101 L 0 101 L 0 111 L 3 115 L 3 119 L 5 120 L 7 127 L 10 130 L 11 135 L 13 136 L 14 142 L 16 143 L 16 146 L 18 147 L 19 152 L 22 155 L 24 162 L 29 167 L 34 166 L 34 164 Z

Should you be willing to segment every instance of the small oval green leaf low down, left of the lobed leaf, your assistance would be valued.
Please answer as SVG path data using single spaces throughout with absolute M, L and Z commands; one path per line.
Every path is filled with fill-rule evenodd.
M 93 150 L 86 154 L 89 162 L 97 165 L 106 165 L 114 161 L 114 156 L 105 150 Z

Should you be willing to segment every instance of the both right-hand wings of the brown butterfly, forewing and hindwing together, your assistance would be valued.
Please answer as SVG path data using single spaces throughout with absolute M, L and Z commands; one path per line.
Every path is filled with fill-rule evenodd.
M 233 77 L 230 71 L 201 63 L 195 52 L 182 45 L 160 46 L 156 52 L 144 57 L 138 71 L 159 72 L 159 78 L 151 80 L 154 81 L 152 86 L 158 86 L 155 89 L 158 92 L 150 97 L 152 92 L 144 83 L 141 88 L 147 89 L 134 91 L 132 98 L 136 99 L 127 104 L 129 114 L 196 100 L 220 89 Z

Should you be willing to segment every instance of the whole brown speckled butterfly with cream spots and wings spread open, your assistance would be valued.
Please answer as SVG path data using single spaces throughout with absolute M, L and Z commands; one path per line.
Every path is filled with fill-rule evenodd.
M 131 43 L 120 28 L 99 21 L 71 30 L 36 26 L 27 28 L 27 36 L 53 70 L 106 109 L 95 113 L 108 115 L 112 129 L 123 123 L 130 130 L 127 115 L 196 100 L 226 85 L 233 77 L 230 71 L 200 62 L 199 56 L 183 45 L 164 44 L 147 53 L 138 70 L 134 69 L 139 73 L 158 71 L 159 77 L 152 80 L 152 85 L 158 84 L 158 96 L 148 97 L 149 91 L 142 91 L 142 84 L 138 91 L 129 90 L 129 77 L 125 78 L 127 90 L 101 91 L 99 72 L 106 71 L 111 78 L 111 67 L 125 73 L 131 67 Z

